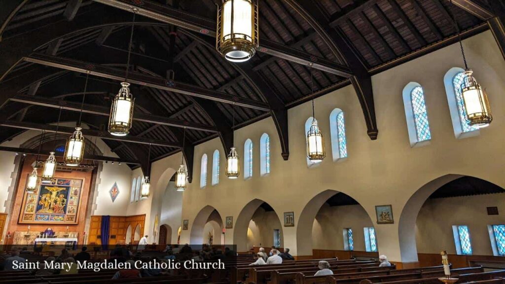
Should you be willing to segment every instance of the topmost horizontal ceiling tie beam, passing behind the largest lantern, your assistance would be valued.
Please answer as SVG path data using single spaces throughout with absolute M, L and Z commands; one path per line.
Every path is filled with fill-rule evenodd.
M 168 5 L 158 4 L 149 0 L 142 0 L 141 2 L 138 2 L 138 4 L 132 3 L 129 0 L 93 1 L 128 12 L 133 12 L 132 8 L 135 7 L 138 9 L 136 12 L 138 15 L 181 27 L 201 35 L 211 36 L 213 38 L 216 37 L 216 22 L 214 20 L 199 17 Z M 288 46 L 278 44 L 264 38 L 260 40 L 258 51 L 299 64 L 308 64 L 313 61 L 317 63 L 313 66 L 315 69 L 319 69 L 324 72 L 331 72 L 344 77 L 350 76 L 350 74 L 348 74 L 349 70 L 345 66 L 335 64 L 327 59 L 319 58 L 305 52 L 291 49 Z

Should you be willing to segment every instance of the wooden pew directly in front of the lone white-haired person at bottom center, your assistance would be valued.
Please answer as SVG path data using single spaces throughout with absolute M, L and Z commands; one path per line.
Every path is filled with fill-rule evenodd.
M 278 270 L 278 271 L 289 271 L 291 269 L 306 269 L 306 270 L 312 270 L 317 271 L 319 270 L 318 268 L 319 262 L 314 262 L 312 264 L 308 265 L 299 265 L 296 267 L 293 266 L 274 266 L 274 267 L 265 267 L 265 265 L 261 266 L 254 266 L 249 268 L 248 276 L 245 280 L 246 283 L 264 283 L 266 282 L 267 278 L 271 275 L 272 271 Z M 354 263 L 338 263 L 336 264 L 335 262 L 330 262 L 330 266 L 334 270 L 340 270 L 340 269 L 349 269 L 349 268 L 378 268 L 379 263 L 377 262 L 367 262 L 367 263 L 360 263 L 360 262 L 354 262 Z M 387 268 L 386 268 L 387 269 Z M 361 270 L 361 269 L 360 269 Z M 286 272 L 287 272 L 286 271 Z

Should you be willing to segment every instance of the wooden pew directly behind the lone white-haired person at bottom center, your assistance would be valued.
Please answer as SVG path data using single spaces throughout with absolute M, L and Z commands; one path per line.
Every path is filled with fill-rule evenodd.
M 402 270 L 398 270 L 402 271 Z M 466 267 L 466 268 L 458 268 L 451 269 L 452 274 L 467 274 L 473 275 L 474 273 L 482 273 L 484 269 L 482 267 Z M 316 283 L 329 283 L 328 279 L 334 280 L 334 282 L 338 282 L 338 284 L 366 284 L 366 283 L 396 283 L 403 281 L 412 281 L 412 283 L 417 283 L 416 281 L 422 282 L 422 279 L 431 279 L 433 277 L 442 277 L 444 276 L 443 269 L 442 270 L 434 270 L 434 271 L 405 271 L 406 273 L 397 273 L 390 275 L 362 275 L 351 278 L 346 278 L 346 275 L 329 275 L 328 276 L 311 276 L 306 275 L 304 273 L 296 274 L 296 284 L 316 284 Z

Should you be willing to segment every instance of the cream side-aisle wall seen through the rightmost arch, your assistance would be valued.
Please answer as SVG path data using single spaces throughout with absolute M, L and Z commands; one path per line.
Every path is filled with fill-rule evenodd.
M 452 225 L 467 225 L 474 255 L 493 255 L 487 225 L 505 224 L 505 193 L 429 199 L 417 218 L 419 253 L 456 254 Z M 498 207 L 499 215 L 487 215 L 486 207 Z M 379 244 L 380 245 L 380 244 Z

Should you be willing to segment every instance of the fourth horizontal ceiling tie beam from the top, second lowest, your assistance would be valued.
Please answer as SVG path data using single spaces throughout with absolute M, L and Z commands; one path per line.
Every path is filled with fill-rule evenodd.
M 57 128 L 58 128 L 59 133 L 66 133 L 69 135 L 72 135 L 72 133 L 74 133 L 74 131 L 75 131 L 74 127 L 57 126 L 57 125 L 52 125 L 52 124 L 41 124 L 41 123 L 32 123 L 32 122 L 19 122 L 19 121 L 12 121 L 12 120 L 0 121 L 0 126 L 13 127 L 13 128 L 19 128 L 19 129 L 27 129 L 27 130 L 39 130 L 39 131 L 44 130 L 45 132 L 56 132 Z M 116 141 L 144 144 L 144 145 L 150 144 L 153 146 L 161 146 L 161 147 L 180 148 L 179 144 L 176 144 L 176 143 L 170 143 L 167 141 L 157 140 L 157 139 L 136 137 L 136 136 L 132 136 L 132 135 L 114 136 L 107 131 L 99 131 L 99 130 L 93 130 L 93 129 L 82 129 L 82 134 L 85 136 L 88 136 L 88 137 L 97 137 L 100 139 L 116 140 Z

